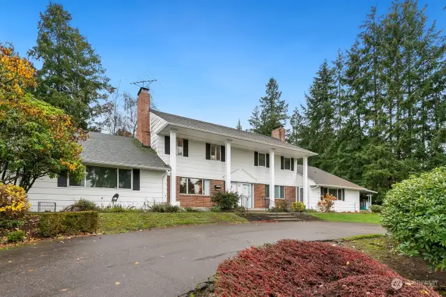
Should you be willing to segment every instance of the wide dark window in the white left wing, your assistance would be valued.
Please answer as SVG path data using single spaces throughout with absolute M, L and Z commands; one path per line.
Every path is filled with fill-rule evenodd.
M 132 169 L 86 165 L 84 180 L 77 183 L 68 176 L 71 187 L 132 189 Z

